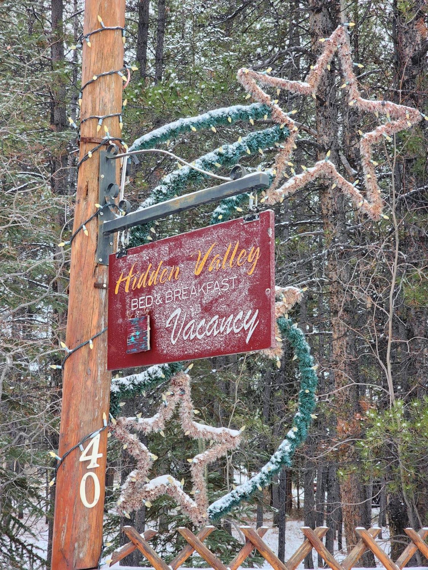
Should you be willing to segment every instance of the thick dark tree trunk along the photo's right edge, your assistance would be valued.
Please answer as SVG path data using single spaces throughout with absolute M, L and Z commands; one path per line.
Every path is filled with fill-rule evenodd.
M 419 109 L 426 108 L 426 89 L 422 86 L 426 81 L 426 53 L 428 39 L 426 29 L 426 6 L 422 0 L 411 0 L 406 7 L 394 1 L 393 40 L 396 57 L 394 100 L 403 105 L 411 105 Z M 411 17 L 410 17 L 411 15 Z M 425 126 L 425 125 L 424 125 Z M 397 188 L 403 194 L 421 188 L 426 184 L 426 129 L 418 127 L 407 135 L 409 142 L 404 146 L 398 157 Z M 409 210 L 409 212 L 407 212 Z M 406 336 L 408 347 L 409 390 L 417 386 L 419 398 L 426 395 L 426 377 L 428 375 L 428 357 L 426 339 L 428 337 L 428 303 L 421 291 L 423 287 L 422 274 L 416 274 L 418 268 L 425 266 L 428 258 L 428 238 L 426 235 L 426 216 L 419 214 L 420 205 L 412 201 L 403 202 L 402 215 L 406 228 L 402 236 L 402 250 L 406 256 L 406 271 L 404 281 L 407 281 L 414 291 L 414 302 L 406 302 Z M 418 295 L 419 294 L 419 295 Z M 414 394 L 412 394 L 413 396 Z M 428 484 L 426 477 L 419 479 L 415 492 L 407 491 L 407 503 L 410 504 L 409 522 L 425 526 L 428 522 Z M 393 501 L 395 503 L 395 500 Z M 409 508 L 409 507 L 408 507 Z M 421 563 L 428 560 L 419 556 Z

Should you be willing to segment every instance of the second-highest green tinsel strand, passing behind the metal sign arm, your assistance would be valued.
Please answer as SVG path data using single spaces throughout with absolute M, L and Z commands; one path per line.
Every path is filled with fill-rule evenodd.
M 195 165 L 203 170 L 215 170 L 221 166 L 235 166 L 241 157 L 247 156 L 247 154 L 259 153 L 259 149 L 273 146 L 278 141 L 285 140 L 288 135 L 288 129 L 281 129 L 278 125 L 269 127 L 264 131 L 255 131 L 243 137 L 241 141 L 224 144 L 219 149 L 204 154 L 204 156 L 195 160 Z M 152 190 L 150 196 L 143 202 L 142 207 L 169 200 L 174 196 L 180 196 L 190 182 L 197 183 L 206 178 L 209 178 L 207 174 L 197 172 L 197 170 L 189 168 L 189 166 L 183 166 L 183 168 L 174 170 L 162 178 L 159 185 Z M 237 198 L 237 200 L 243 200 L 244 196 L 241 194 L 241 197 Z M 147 243 L 148 235 L 150 235 L 150 226 L 135 227 L 131 231 L 130 247 Z

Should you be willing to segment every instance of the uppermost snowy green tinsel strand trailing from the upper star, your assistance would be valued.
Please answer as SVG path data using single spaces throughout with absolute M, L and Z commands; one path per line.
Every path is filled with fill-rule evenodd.
M 267 119 L 268 117 L 270 117 L 270 108 L 260 103 L 221 107 L 220 109 L 213 109 L 196 117 L 178 119 L 177 121 L 173 121 L 173 123 L 159 127 L 159 129 L 154 129 L 154 131 L 150 131 L 150 133 L 136 139 L 129 150 L 154 148 L 156 144 L 163 143 L 168 139 L 176 139 L 182 133 L 186 132 L 200 131 L 201 129 L 208 128 L 215 129 L 219 125 L 231 125 L 238 121 Z

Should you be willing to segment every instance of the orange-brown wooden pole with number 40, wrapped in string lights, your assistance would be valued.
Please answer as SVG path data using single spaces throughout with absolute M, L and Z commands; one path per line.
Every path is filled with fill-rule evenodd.
M 83 34 L 104 26 L 124 26 L 125 0 L 86 0 Z M 120 113 L 122 78 L 103 72 L 122 70 L 122 30 L 103 30 L 90 36 L 91 47 L 83 42 L 81 119 Z M 98 120 L 81 125 L 79 160 L 87 156 L 105 135 L 98 133 Z M 119 117 L 103 120 L 111 137 L 120 137 Z M 98 142 L 97 142 L 98 140 Z M 106 149 L 103 146 L 102 149 Z M 96 211 L 99 187 L 99 152 L 82 162 L 78 174 L 73 231 Z M 79 231 L 71 246 L 70 295 L 66 345 L 69 349 L 88 341 L 107 326 L 108 267 L 95 261 L 98 219 L 87 224 L 88 235 Z M 87 434 L 103 426 L 108 417 L 110 374 L 107 372 L 107 334 L 85 344 L 64 363 L 59 456 Z M 84 443 L 64 459 L 56 475 L 54 536 L 51 568 L 82 570 L 98 568 L 102 547 L 104 479 L 106 472 L 107 430 Z M 98 447 L 98 449 L 97 449 Z M 100 455 L 102 454 L 102 455 Z M 83 457 L 82 457 L 83 455 Z M 82 459 L 82 461 L 80 461 Z M 98 497 L 98 500 L 97 500 Z

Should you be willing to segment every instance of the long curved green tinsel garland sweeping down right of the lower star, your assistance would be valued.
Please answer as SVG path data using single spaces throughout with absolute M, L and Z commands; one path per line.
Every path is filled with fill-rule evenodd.
M 295 327 L 291 320 L 280 317 L 277 323 L 282 338 L 290 342 L 298 359 L 301 377 L 298 394 L 298 412 L 294 415 L 292 429 L 289 430 L 285 439 L 280 443 L 268 463 L 261 468 L 260 472 L 208 507 L 208 518 L 212 522 L 227 515 L 233 507 L 238 506 L 243 500 L 250 499 L 257 489 L 266 487 L 272 482 L 274 475 L 281 470 L 282 466 L 290 467 L 294 451 L 305 441 L 308 435 L 308 427 L 312 421 L 311 414 L 316 405 L 315 392 L 318 384 L 317 375 L 312 368 L 313 359 L 310 355 L 310 348 L 305 341 L 304 333 L 300 328 Z

